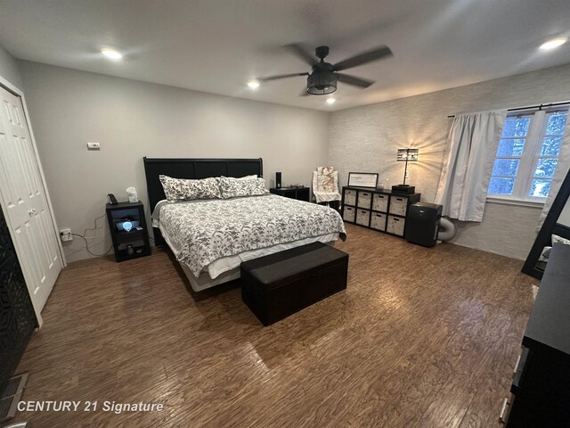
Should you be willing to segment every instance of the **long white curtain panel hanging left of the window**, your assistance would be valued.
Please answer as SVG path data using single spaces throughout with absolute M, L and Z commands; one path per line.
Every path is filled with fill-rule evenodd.
M 497 110 L 458 114 L 453 119 L 436 193 L 436 203 L 444 206 L 444 216 L 461 221 L 483 220 L 487 187 L 506 117 L 506 110 Z

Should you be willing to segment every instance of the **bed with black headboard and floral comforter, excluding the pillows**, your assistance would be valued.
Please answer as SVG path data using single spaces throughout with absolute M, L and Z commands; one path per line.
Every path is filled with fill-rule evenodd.
M 240 263 L 306 243 L 346 239 L 337 211 L 274 194 L 167 202 L 159 175 L 263 176 L 261 159 L 150 159 L 144 167 L 155 243 L 167 244 L 199 292 L 240 277 Z

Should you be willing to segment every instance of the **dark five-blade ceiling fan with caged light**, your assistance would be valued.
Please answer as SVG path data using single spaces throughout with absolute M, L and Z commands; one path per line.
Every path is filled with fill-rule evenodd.
M 308 76 L 306 78 L 306 90 L 301 95 L 327 95 L 337 90 L 337 82 L 343 82 L 348 85 L 358 86 L 361 88 L 371 86 L 374 81 L 364 78 L 356 78 L 348 74 L 339 73 L 338 71 L 351 69 L 367 62 L 373 62 L 392 55 L 392 51 L 386 45 L 381 45 L 371 51 L 366 51 L 358 55 L 354 55 L 345 61 L 331 64 L 324 62 L 329 55 L 329 46 L 319 46 L 315 49 L 315 55 L 321 61 L 316 61 L 305 47 L 300 44 L 288 45 L 294 53 L 312 67 L 310 73 L 292 73 L 280 74 L 276 76 L 267 76 L 265 78 L 257 78 L 258 81 L 266 82 L 278 78 L 293 78 L 295 76 Z

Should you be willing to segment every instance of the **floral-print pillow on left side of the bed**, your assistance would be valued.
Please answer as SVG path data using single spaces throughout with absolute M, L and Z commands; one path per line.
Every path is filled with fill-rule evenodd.
M 220 199 L 219 178 L 211 177 L 202 180 L 159 176 L 160 183 L 168 202 L 191 201 L 193 199 Z

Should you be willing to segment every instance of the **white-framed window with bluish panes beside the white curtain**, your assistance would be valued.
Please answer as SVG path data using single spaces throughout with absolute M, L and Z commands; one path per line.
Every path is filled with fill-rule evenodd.
M 558 165 L 568 111 L 509 115 L 493 164 L 487 195 L 543 202 Z

